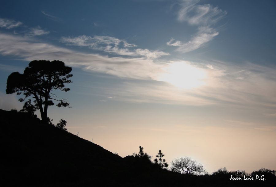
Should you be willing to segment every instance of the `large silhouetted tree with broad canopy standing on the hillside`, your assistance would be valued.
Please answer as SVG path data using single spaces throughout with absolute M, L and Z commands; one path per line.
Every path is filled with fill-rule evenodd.
M 33 97 L 34 105 L 40 110 L 41 120 L 47 122 L 48 106 L 54 105 L 53 100 L 59 101 L 56 105 L 58 107 L 69 107 L 66 99 L 59 99 L 51 91 L 69 91 L 70 88 L 64 88 L 64 84 L 71 83 L 69 79 L 73 76 L 70 74 L 71 71 L 71 67 L 65 66 L 59 60 L 33 60 L 23 74 L 13 72 L 9 75 L 6 94 L 23 93 L 25 97 L 19 99 L 20 102 L 27 97 Z

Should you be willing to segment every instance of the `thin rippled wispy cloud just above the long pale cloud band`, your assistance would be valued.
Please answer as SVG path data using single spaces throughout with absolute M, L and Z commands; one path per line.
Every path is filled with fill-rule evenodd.
M 169 53 L 163 51 L 151 51 L 149 49 L 132 49 L 137 47 L 135 44 L 129 44 L 126 40 L 121 40 L 110 36 L 76 36 L 76 37 L 62 37 L 61 42 L 67 45 L 75 45 L 81 47 L 89 47 L 94 50 L 108 52 L 116 55 L 128 56 L 145 56 L 149 59 L 155 59 Z

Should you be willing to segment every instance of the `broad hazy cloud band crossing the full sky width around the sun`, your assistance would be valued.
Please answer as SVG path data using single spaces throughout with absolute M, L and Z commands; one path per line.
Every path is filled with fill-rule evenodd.
M 119 84 L 102 89 L 102 96 L 127 102 L 156 102 L 178 105 L 225 104 L 247 109 L 256 109 L 264 114 L 274 114 L 276 107 L 275 69 L 252 63 L 232 66 L 231 63 L 215 61 L 184 62 L 162 61 L 141 57 L 108 57 L 99 54 L 81 53 L 32 38 L 0 33 L 0 53 L 31 61 L 35 59 L 61 60 L 68 66 L 80 67 L 85 71 L 105 73 L 122 79 Z M 206 76 L 199 81 L 204 84 L 193 89 L 179 89 L 160 80 L 174 63 L 189 64 Z M 208 67 L 206 67 L 208 64 Z M 185 66 L 180 66 L 185 67 Z M 181 72 L 179 69 L 177 72 Z M 183 72 L 187 70 L 183 69 Z M 237 79 L 243 77 L 243 80 Z M 195 77 L 197 78 L 197 77 Z M 126 81 L 127 80 L 127 81 Z M 190 78 L 180 78 L 183 84 Z M 173 83 L 173 82 L 172 82 Z M 85 86 L 85 85 L 84 85 Z M 107 99 L 106 99 L 107 100 Z

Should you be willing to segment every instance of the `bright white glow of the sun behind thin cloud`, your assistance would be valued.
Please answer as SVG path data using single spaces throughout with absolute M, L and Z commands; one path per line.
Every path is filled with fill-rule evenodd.
M 179 89 L 192 89 L 205 84 L 206 72 L 187 62 L 173 62 L 163 69 L 159 81 L 168 82 Z

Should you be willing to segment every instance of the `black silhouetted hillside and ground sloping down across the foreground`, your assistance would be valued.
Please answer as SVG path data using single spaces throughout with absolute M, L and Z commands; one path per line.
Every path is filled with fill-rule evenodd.
M 1 186 L 274 186 L 229 174 L 184 175 L 147 159 L 121 158 L 26 113 L 0 110 Z M 126 140 L 127 141 L 127 140 Z

